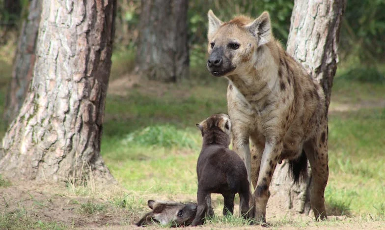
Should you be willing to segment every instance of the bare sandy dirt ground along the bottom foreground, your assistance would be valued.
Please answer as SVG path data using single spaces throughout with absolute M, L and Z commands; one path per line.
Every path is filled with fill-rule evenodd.
M 111 191 L 95 191 L 93 196 L 77 196 L 63 184 L 39 184 L 35 182 L 12 182 L 13 185 L 0 188 L 0 213 L 12 213 L 24 209 L 33 221 L 56 222 L 69 229 L 142 229 L 134 224 L 143 213 L 131 213 L 128 208 L 116 207 L 109 201 Z M 122 189 L 118 185 L 109 190 Z M 95 189 L 98 190 L 98 189 Z M 102 212 L 82 214 L 81 204 L 91 201 L 105 205 Z M 220 213 L 218 213 L 220 215 Z M 324 223 L 314 222 L 312 216 L 286 211 L 271 197 L 267 207 L 267 220 L 271 227 L 244 226 L 231 229 L 385 229 L 385 222 L 361 219 L 359 217 L 329 216 Z M 206 225 L 185 229 L 227 229 L 224 226 Z M 154 229 L 151 227 L 149 229 Z

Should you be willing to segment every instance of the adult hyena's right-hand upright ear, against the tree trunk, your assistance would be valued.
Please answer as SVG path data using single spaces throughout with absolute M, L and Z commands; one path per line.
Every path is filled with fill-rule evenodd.
M 258 46 L 268 43 L 272 37 L 272 25 L 270 23 L 270 15 L 267 11 L 255 19 L 252 23 L 246 25 L 254 37 L 258 38 Z

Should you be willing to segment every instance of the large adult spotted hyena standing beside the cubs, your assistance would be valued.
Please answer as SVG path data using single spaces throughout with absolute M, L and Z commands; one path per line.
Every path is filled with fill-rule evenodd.
M 268 12 L 255 20 L 238 16 L 222 22 L 210 10 L 208 19 L 207 66 L 229 80 L 233 148 L 255 188 L 256 220 L 265 221 L 269 185 L 283 159 L 295 181 L 306 174 L 309 160 L 311 206 L 317 220 L 326 219 L 328 120 L 322 87 L 274 39 Z

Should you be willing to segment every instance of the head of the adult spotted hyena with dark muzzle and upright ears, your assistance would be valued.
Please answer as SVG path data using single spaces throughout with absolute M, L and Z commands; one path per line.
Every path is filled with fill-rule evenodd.
M 217 77 L 249 70 L 256 61 L 257 48 L 272 39 L 270 16 L 266 11 L 255 20 L 238 16 L 222 22 L 209 10 L 208 18 L 207 67 Z

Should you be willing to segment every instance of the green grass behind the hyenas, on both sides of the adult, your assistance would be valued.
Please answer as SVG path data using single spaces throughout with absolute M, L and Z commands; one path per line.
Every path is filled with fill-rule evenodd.
M 381 102 L 385 84 L 379 83 L 378 76 L 365 82 L 349 77 L 352 71 L 338 74 L 330 108 Z M 175 86 L 162 97 L 137 88 L 126 97 L 108 96 L 106 117 L 114 116 L 105 120 L 102 154 L 127 190 L 137 197 L 195 197 L 201 137 L 194 125 L 226 112 L 226 82 L 221 80 Z M 183 96 L 173 96 L 178 89 L 185 92 Z M 332 214 L 384 216 L 384 127 L 381 108 L 330 114 L 330 180 L 325 198 Z

